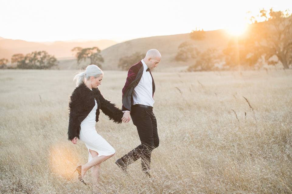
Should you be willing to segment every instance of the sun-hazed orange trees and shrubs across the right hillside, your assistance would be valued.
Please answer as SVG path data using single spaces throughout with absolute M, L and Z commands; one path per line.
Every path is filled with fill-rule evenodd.
M 176 61 L 192 62 L 188 71 L 220 69 L 255 69 L 263 64 L 282 64 L 288 69 L 292 64 L 292 16 L 286 11 L 262 9 L 259 17 L 252 16 L 252 25 L 243 37 L 231 39 L 226 48 L 199 51 L 192 41 L 182 42 L 178 47 Z M 261 19 L 264 22 L 258 22 Z M 204 31 L 196 29 L 190 38 L 204 39 Z

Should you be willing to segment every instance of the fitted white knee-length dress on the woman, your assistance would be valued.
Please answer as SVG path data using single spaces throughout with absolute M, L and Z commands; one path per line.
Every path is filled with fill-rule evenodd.
M 95 101 L 95 106 L 89 112 L 87 117 L 80 124 L 80 140 L 85 143 L 88 149 L 88 162 L 92 160 L 92 155 L 89 152 L 89 149 L 94 150 L 98 153 L 99 156 L 109 156 L 114 154 L 116 151 L 113 149 L 109 143 L 103 139 L 101 135 L 96 132 L 95 124 L 96 124 L 96 110 L 97 103 Z

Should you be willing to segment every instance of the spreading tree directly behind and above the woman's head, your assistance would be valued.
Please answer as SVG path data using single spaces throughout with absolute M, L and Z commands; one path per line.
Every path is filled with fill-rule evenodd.
M 90 59 L 90 64 L 95 64 L 101 67 L 101 62 L 104 62 L 103 57 L 100 55 L 100 50 L 98 47 L 85 48 L 75 47 L 71 50 L 75 52 L 75 57 L 77 59 L 77 63 L 80 64 L 81 61 L 86 61 L 86 59 Z

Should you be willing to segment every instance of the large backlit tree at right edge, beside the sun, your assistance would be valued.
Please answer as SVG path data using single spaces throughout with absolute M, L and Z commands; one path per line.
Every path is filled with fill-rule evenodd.
M 258 19 L 265 22 L 258 22 Z M 264 55 L 269 64 L 281 62 L 284 69 L 292 64 L 292 16 L 286 11 L 260 11 L 259 18 L 251 17 L 253 22 L 247 41 L 252 49 Z M 276 60 L 274 60 L 276 56 Z

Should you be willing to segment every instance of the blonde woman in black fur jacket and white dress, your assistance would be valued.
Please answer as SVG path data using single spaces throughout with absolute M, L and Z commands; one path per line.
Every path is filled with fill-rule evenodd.
M 92 177 L 98 181 L 101 162 L 115 154 L 113 147 L 96 132 L 95 124 L 98 122 L 99 109 L 116 123 L 122 121 L 127 123 L 130 120 L 130 118 L 122 120 L 123 112 L 100 93 L 97 86 L 101 84 L 102 79 L 101 69 L 96 65 L 88 65 L 85 72 L 75 76 L 77 87 L 69 102 L 68 140 L 76 144 L 80 139 L 85 143 L 89 152 L 88 162 L 76 168 L 78 179 L 85 185 L 86 183 L 82 179 L 85 172 L 91 168 Z

